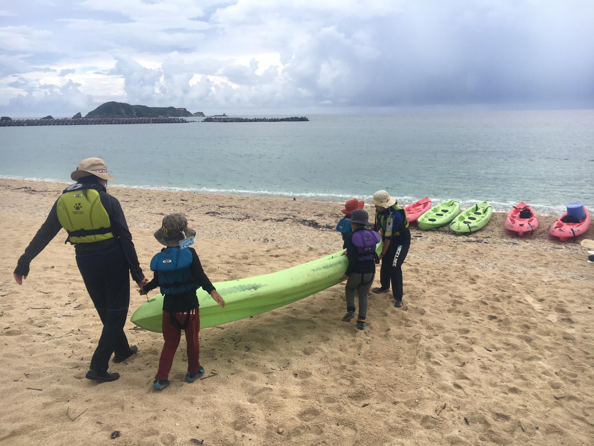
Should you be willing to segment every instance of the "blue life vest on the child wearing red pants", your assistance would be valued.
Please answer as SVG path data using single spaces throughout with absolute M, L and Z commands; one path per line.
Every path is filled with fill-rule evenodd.
M 150 261 L 151 271 L 159 272 L 161 294 L 184 293 L 198 289 L 192 278 L 190 265 L 192 252 L 170 246 L 153 257 Z

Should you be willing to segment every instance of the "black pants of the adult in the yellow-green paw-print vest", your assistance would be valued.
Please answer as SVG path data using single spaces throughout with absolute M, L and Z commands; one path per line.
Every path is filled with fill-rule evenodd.
M 125 356 L 130 350 L 124 333 L 130 303 L 128 263 L 119 246 L 99 253 L 81 253 L 76 262 L 103 322 L 90 368 L 106 372 L 114 351 L 116 355 Z

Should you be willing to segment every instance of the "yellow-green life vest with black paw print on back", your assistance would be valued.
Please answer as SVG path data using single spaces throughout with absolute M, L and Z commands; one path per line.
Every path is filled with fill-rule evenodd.
M 84 193 L 86 191 L 86 194 Z M 108 212 L 94 189 L 66 191 L 58 199 L 56 211 L 70 243 L 93 243 L 113 238 Z

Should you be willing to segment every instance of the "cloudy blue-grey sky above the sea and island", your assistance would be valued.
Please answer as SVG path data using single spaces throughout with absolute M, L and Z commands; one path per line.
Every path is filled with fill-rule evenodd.
M 594 108 L 592 0 L 0 2 L 0 113 Z

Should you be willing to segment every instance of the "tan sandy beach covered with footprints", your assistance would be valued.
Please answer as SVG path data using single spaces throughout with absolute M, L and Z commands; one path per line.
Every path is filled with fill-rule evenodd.
M 340 321 L 339 284 L 204 329 L 204 379 L 183 381 L 182 342 L 172 385 L 159 392 L 151 383 L 162 337 L 130 322 L 125 331 L 139 352 L 111 366 L 121 378 L 84 378 L 101 324 L 64 231 L 22 286 L 12 278 L 62 189 L 0 179 L 2 445 L 594 444 L 594 264 L 578 243 L 548 235 L 554 216 L 523 238 L 504 229 L 501 213 L 467 236 L 412 228 L 402 309 L 391 293 L 371 297 L 368 326 L 357 331 Z M 147 277 L 160 249 L 153 232 L 174 211 L 197 230 L 213 282 L 279 271 L 342 246 L 332 229 L 339 205 L 109 193 L 124 208 Z M 130 314 L 143 302 L 132 285 Z M 121 435 L 111 440 L 113 431 Z

